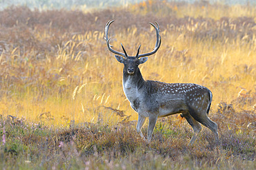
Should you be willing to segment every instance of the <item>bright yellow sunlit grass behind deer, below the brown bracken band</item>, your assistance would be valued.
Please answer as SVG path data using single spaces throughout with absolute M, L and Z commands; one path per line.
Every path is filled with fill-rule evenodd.
M 161 30 L 160 50 L 140 66 L 144 78 L 204 85 L 213 92 L 213 112 L 221 101 L 235 100 L 241 89 L 254 90 L 255 36 L 193 38 L 203 25 L 191 30 L 190 22 L 179 28 L 178 34 Z M 154 30 L 138 34 L 136 27 L 110 36 L 111 44 L 121 50 L 122 42 L 129 55 L 135 54 L 139 44 L 143 53 L 152 50 L 155 43 Z M 51 32 L 35 32 L 35 37 L 44 41 L 51 38 Z M 122 65 L 107 50 L 104 32 L 75 34 L 71 39 L 64 34 L 62 39 L 65 41 L 53 47 L 57 52 L 45 52 L 44 59 L 35 59 L 39 51 L 33 47 L 10 47 L 10 52 L 1 54 L 2 69 L 8 72 L 1 77 L 1 90 L 6 92 L 2 94 L 1 114 L 24 116 L 48 125 L 68 125 L 71 120 L 95 123 L 100 114 L 107 123 L 115 124 L 120 121 L 118 117 L 104 108 L 111 107 L 124 110 L 131 120 L 136 120 L 137 114 L 122 92 Z M 253 105 L 244 109 L 253 109 Z M 51 118 L 40 119 L 44 113 Z

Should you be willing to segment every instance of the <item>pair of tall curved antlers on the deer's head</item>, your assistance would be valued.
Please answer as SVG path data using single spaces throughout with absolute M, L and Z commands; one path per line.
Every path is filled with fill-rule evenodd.
M 120 56 L 123 56 L 123 57 L 127 58 L 128 55 L 127 55 L 127 52 L 125 51 L 125 47 L 122 46 L 122 50 L 125 52 L 125 53 L 122 53 L 122 52 L 118 52 L 116 50 L 113 50 L 113 48 L 111 48 L 113 46 L 109 44 L 109 40 L 110 40 L 110 38 L 108 36 L 109 25 L 111 25 L 111 23 L 113 23 L 113 21 L 114 20 L 108 21 L 106 26 L 105 26 L 105 38 L 104 39 L 107 41 L 107 47 L 109 48 L 109 51 L 113 52 L 114 54 L 118 54 Z M 137 58 L 140 58 L 142 56 L 150 56 L 152 54 L 155 54 L 157 52 L 157 50 L 159 49 L 160 45 L 161 45 L 161 36 L 159 34 L 160 29 L 159 29 L 158 23 L 156 22 L 156 25 L 158 26 L 158 28 L 156 28 L 156 26 L 153 23 L 150 23 L 150 24 L 156 29 L 156 45 L 155 45 L 154 50 L 152 52 L 148 52 L 148 53 L 145 53 L 145 54 L 138 54 L 139 51 L 140 51 L 140 46 L 139 46 L 138 47 L 138 52 L 136 54 Z M 122 43 L 121 43 L 121 45 L 122 45 Z

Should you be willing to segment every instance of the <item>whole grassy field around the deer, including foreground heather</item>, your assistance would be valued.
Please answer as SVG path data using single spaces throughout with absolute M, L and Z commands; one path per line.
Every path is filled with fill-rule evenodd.
M 122 91 L 107 49 L 152 51 L 146 80 L 197 83 L 213 94 L 220 144 L 179 114 L 158 118 L 152 142 Z M 143 1 L 101 10 L 0 11 L 0 166 L 4 169 L 256 169 L 256 7 Z M 147 123 L 143 134 L 147 133 Z

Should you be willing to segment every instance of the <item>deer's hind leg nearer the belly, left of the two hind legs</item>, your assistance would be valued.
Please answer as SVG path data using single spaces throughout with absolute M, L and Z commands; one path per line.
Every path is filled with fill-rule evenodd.
M 190 143 L 188 144 L 188 146 L 193 145 L 194 141 L 196 140 L 199 132 L 201 131 L 202 127 L 199 124 L 199 122 L 197 122 L 196 120 L 194 120 L 194 118 L 189 114 L 182 114 L 183 117 L 185 117 L 185 119 L 188 121 L 188 123 L 191 125 L 191 127 L 193 128 L 194 134 L 190 140 Z

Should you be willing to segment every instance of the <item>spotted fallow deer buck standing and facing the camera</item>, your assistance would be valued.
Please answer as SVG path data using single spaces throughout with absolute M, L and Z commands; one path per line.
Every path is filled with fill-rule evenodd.
M 210 89 L 194 83 L 163 83 L 144 80 L 138 66 L 147 61 L 147 56 L 155 54 L 161 45 L 158 23 L 156 22 L 157 27 L 150 23 L 156 30 L 154 50 L 145 54 L 139 54 L 140 45 L 136 56 L 128 56 L 122 43 L 123 52 L 113 50 L 113 46 L 109 44 L 109 26 L 113 21 L 107 22 L 104 39 L 107 41 L 109 51 L 116 54 L 116 60 L 124 65 L 122 88 L 131 108 L 138 113 L 136 131 L 140 134 L 141 138 L 146 140 L 141 131 L 146 118 L 149 119 L 147 129 L 147 142 L 149 143 L 152 139 L 158 117 L 181 114 L 181 117 L 185 118 L 193 129 L 193 136 L 188 146 L 193 145 L 201 131 L 200 123 L 212 131 L 214 140 L 218 142 L 218 125 L 208 118 L 212 103 L 212 92 Z

